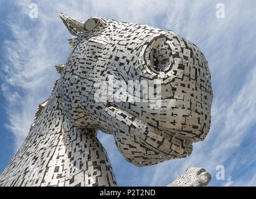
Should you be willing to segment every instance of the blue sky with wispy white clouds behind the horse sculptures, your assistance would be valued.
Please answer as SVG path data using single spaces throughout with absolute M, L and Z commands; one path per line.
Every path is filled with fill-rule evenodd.
M 29 17 L 29 4 L 38 18 Z M 225 17 L 216 17 L 216 5 Z M 165 186 L 187 167 L 204 167 L 209 186 L 256 185 L 256 2 L 255 1 L 4 1 L 0 0 L 0 172 L 26 138 L 39 103 L 59 78 L 54 65 L 65 63 L 71 38 L 57 11 L 86 21 L 100 16 L 173 30 L 204 52 L 212 76 L 211 131 L 186 159 L 136 167 L 116 149 L 113 137 L 99 132 L 118 185 Z M 225 179 L 217 180 L 217 165 Z

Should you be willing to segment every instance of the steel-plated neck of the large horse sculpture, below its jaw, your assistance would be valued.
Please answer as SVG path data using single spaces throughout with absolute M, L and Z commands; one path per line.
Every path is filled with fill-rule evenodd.
M 115 175 L 94 130 L 73 126 L 55 91 L 0 175 L 4 186 L 113 186 Z

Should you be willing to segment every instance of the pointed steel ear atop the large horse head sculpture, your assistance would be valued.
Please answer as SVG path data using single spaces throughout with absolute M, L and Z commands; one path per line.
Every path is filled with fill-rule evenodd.
M 65 26 L 67 27 L 67 29 L 72 35 L 78 36 L 84 31 L 85 22 L 69 17 L 63 14 L 62 12 L 58 12 L 58 14 L 60 16 L 60 19 L 62 19 Z

